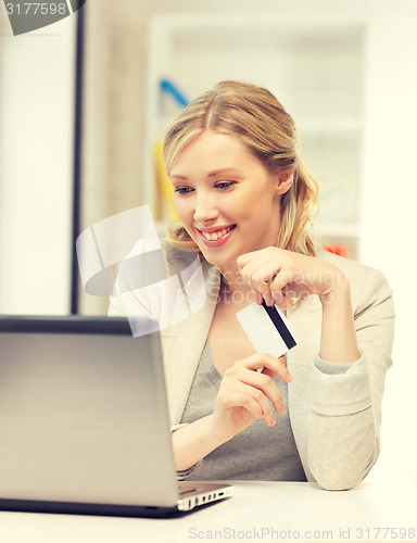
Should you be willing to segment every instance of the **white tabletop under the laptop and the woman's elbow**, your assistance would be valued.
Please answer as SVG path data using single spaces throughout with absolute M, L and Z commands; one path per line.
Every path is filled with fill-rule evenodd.
M 313 483 L 235 482 L 235 495 L 180 518 L 0 513 L 1 543 L 374 541 L 417 543 L 417 489 L 364 481 L 348 492 Z

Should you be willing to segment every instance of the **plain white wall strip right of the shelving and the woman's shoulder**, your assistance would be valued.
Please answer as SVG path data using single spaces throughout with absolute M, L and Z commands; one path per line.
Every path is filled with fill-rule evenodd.
M 417 2 L 376 0 L 369 28 L 361 258 L 387 275 L 397 315 L 371 476 L 417 485 Z

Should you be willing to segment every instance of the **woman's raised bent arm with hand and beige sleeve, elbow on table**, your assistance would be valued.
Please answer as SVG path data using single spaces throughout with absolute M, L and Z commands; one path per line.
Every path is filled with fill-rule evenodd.
M 354 316 L 349 281 L 327 261 L 268 248 L 242 255 L 238 263 L 258 292 L 258 302 L 285 304 L 288 296 L 308 294 L 320 299 L 320 356 L 314 362 L 309 387 L 308 464 L 326 489 L 356 485 L 379 454 L 394 318 L 387 281 L 370 268 L 358 274 L 356 281 L 365 285 Z

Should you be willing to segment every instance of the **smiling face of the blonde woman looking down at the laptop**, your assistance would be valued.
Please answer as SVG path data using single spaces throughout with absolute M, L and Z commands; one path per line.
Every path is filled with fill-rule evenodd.
M 202 132 L 179 153 L 169 177 L 179 220 L 219 269 L 276 244 L 288 188 L 237 138 Z

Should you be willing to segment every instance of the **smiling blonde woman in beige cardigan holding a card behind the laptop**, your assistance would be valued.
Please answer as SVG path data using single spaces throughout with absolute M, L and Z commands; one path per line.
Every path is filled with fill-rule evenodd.
M 179 218 L 167 260 L 199 252 L 211 294 L 165 340 L 178 471 L 354 487 L 379 454 L 393 334 L 383 276 L 316 248 L 317 186 L 267 90 L 217 85 L 173 124 L 164 156 Z M 256 353 L 236 318 L 263 301 L 295 330 L 287 356 Z

